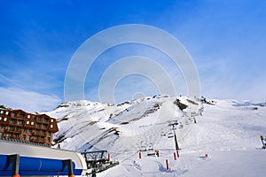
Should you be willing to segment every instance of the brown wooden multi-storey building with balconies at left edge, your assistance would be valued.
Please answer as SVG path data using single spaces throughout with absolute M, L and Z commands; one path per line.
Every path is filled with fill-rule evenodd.
M 56 119 L 46 114 L 0 108 L 0 138 L 51 146 L 52 135 L 58 131 Z

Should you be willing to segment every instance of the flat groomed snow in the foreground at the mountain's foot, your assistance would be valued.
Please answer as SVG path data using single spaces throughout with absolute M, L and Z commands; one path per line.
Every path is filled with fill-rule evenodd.
M 264 176 L 264 150 L 212 151 L 208 158 L 204 154 L 183 154 L 174 160 L 169 155 L 163 157 L 130 158 L 98 176 L 182 176 L 182 177 L 226 177 L 226 176 Z M 169 160 L 166 170 L 165 159 Z

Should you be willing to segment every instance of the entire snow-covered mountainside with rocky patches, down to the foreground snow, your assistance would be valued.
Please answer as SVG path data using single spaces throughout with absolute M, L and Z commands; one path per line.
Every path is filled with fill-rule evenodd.
M 114 105 L 82 100 L 60 104 L 52 112 L 45 113 L 58 119 L 55 147 L 60 144 L 67 150 L 108 150 L 113 158 L 122 162 L 101 174 L 104 176 L 195 176 L 192 174 L 200 173 L 199 166 L 221 163 L 215 161 L 217 158 L 204 158 L 202 161 L 201 155 L 205 153 L 218 159 L 234 157 L 230 158 L 232 164 L 234 159 L 239 159 L 235 152 L 243 157 L 250 153 L 262 156 L 255 150 L 262 147 L 260 135 L 266 135 L 266 103 L 246 101 L 153 96 Z M 182 149 L 178 161 L 172 158 L 175 143 L 171 138 L 171 127 L 168 127 L 168 123 L 173 121 L 178 123 L 177 140 Z M 144 155 L 145 158 L 138 159 L 138 150 L 151 144 L 160 150 L 160 157 Z M 170 171 L 165 169 L 166 158 L 169 159 Z M 250 162 L 247 166 L 253 168 L 255 163 L 252 159 L 245 160 Z M 218 170 L 214 166 L 211 169 Z M 231 176 L 226 175 L 229 172 L 234 171 L 215 175 Z

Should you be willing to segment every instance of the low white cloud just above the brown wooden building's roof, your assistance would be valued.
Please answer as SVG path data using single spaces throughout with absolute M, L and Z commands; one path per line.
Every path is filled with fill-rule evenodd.
M 51 111 L 61 100 L 58 96 L 43 95 L 16 88 L 0 88 L 0 104 L 26 112 Z

